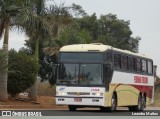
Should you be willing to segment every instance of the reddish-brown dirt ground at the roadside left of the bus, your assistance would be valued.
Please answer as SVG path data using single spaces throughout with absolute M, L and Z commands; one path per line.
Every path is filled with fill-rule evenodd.
M 51 96 L 39 96 L 37 102 L 27 98 L 9 99 L 7 102 L 0 101 L 0 109 L 55 109 L 67 108 L 67 106 L 55 105 L 55 98 Z

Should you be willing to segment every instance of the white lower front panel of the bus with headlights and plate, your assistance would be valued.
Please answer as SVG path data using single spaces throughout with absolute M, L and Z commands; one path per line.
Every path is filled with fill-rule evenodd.
M 102 87 L 56 87 L 56 104 L 104 106 L 105 88 Z

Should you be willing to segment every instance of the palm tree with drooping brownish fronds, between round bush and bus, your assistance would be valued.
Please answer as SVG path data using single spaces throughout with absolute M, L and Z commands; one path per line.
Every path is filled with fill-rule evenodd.
M 78 11 L 78 8 L 75 8 L 75 6 L 76 5 L 73 7 L 65 7 L 64 4 L 62 4 L 60 6 L 51 5 L 49 8 L 46 8 L 45 0 L 35 0 L 32 7 L 34 9 L 28 12 L 30 14 L 28 19 L 23 19 L 26 17 L 21 17 L 20 15 L 20 23 L 23 22 L 22 26 L 29 36 L 29 41 L 35 44 L 35 46 L 32 46 L 32 50 L 34 51 L 35 62 L 38 68 L 39 43 L 44 42 L 44 40 L 57 38 L 59 27 L 70 23 L 73 18 L 69 10 L 77 9 Z M 30 93 L 30 98 L 32 100 L 37 100 L 36 82 L 31 88 L 32 93 Z

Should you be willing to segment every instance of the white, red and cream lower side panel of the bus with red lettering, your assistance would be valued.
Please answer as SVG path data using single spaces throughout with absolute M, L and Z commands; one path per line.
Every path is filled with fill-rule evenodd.
M 109 86 L 109 92 L 105 93 L 105 106 L 111 106 L 113 92 L 117 93 L 117 106 L 137 105 L 138 95 L 146 93 L 146 102 L 153 100 L 154 77 L 114 71 Z

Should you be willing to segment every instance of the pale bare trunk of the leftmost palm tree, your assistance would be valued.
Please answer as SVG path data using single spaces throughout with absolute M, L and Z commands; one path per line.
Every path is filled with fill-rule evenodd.
M 6 53 L 7 64 L 8 65 L 8 38 L 9 38 L 9 18 L 6 18 L 5 21 L 5 34 L 3 41 L 3 51 Z M 0 100 L 7 101 L 8 92 L 7 92 L 7 79 L 8 79 L 8 68 L 0 72 Z

